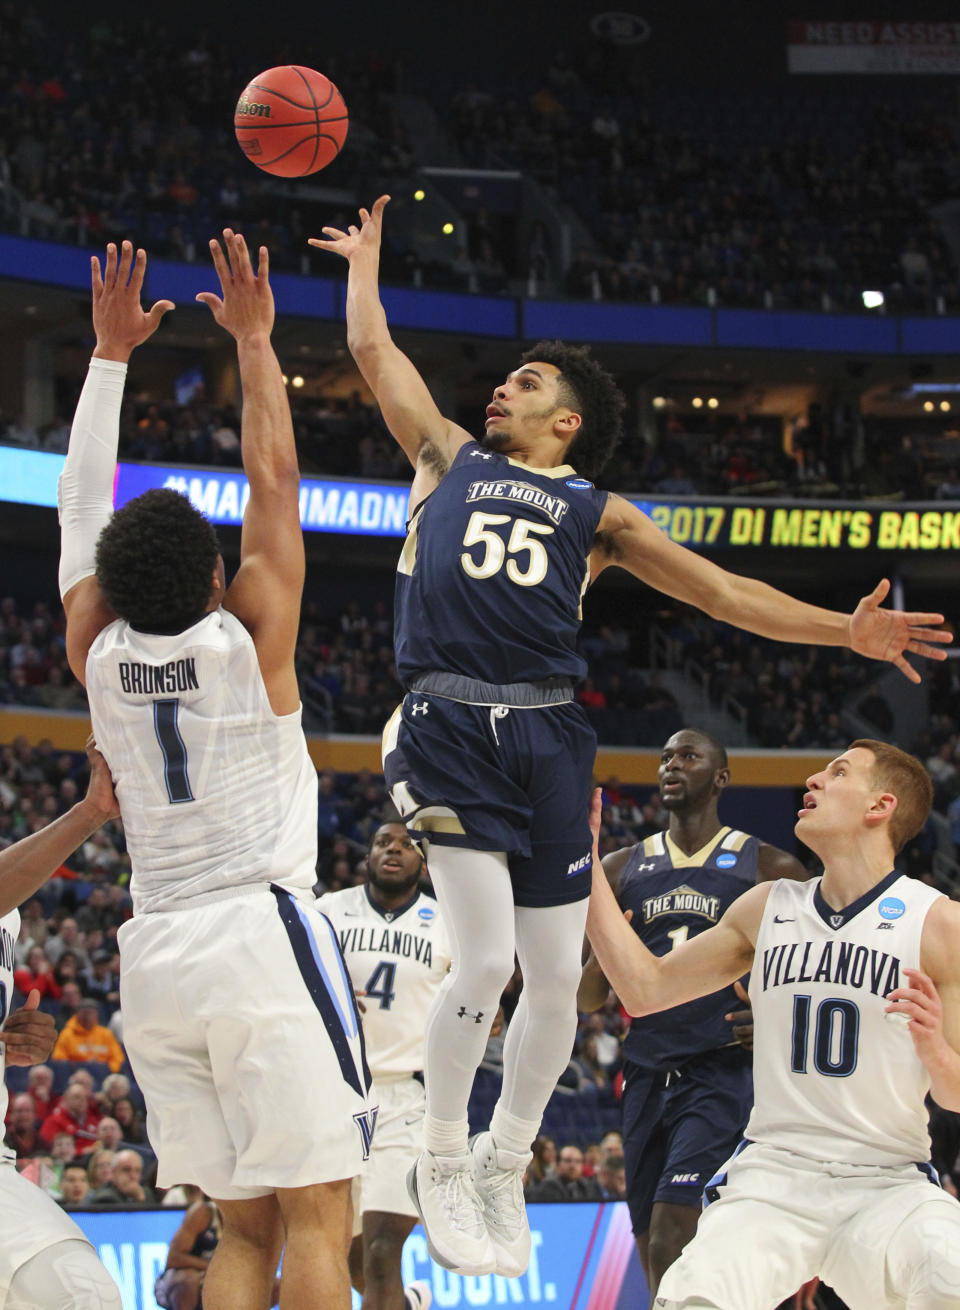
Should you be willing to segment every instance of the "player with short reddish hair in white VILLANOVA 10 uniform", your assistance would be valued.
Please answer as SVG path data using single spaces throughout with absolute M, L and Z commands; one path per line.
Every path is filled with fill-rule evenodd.
M 752 971 L 753 1110 L 656 1305 L 773 1310 L 820 1275 L 853 1310 L 956 1310 L 960 1205 L 930 1165 L 925 1098 L 960 1110 L 960 907 L 895 867 L 932 785 L 859 740 L 807 789 L 796 834 L 822 878 L 753 887 L 664 956 L 595 863 L 587 927 L 630 1014 Z

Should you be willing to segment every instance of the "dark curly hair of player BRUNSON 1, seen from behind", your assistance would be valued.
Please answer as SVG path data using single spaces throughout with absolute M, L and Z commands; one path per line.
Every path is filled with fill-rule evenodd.
M 132 627 L 182 633 L 203 617 L 220 545 L 179 491 L 155 490 L 118 510 L 97 541 L 97 580 Z

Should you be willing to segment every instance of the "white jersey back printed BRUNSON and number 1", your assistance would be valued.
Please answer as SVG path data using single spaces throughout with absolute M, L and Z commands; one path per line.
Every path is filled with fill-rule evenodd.
M 301 711 L 270 707 L 253 638 L 225 609 L 173 637 L 118 620 L 86 656 L 117 786 L 134 913 L 316 882 L 317 773 Z

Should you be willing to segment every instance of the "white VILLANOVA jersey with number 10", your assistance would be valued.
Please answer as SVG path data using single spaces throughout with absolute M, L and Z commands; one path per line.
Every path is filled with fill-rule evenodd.
M 773 884 L 750 975 L 754 1106 L 749 1141 L 817 1161 L 930 1159 L 930 1076 L 887 996 L 919 968 L 940 893 L 892 872 L 840 913 L 820 879 Z

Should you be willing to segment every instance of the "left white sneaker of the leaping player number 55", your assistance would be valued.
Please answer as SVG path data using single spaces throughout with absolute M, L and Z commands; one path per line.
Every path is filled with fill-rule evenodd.
M 453 1273 L 492 1273 L 494 1244 L 473 1182 L 470 1155 L 423 1151 L 407 1174 L 407 1192 L 423 1220 L 427 1250 Z

